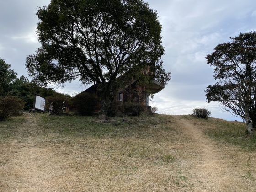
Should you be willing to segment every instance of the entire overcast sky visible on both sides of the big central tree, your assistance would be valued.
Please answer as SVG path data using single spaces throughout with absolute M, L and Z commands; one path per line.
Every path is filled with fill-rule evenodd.
M 206 103 L 204 90 L 214 84 L 213 68 L 206 54 L 219 43 L 240 32 L 256 30 L 255 0 L 145 0 L 157 10 L 162 25 L 165 69 L 171 81 L 155 94 L 152 106 L 163 114 L 191 114 L 194 108 L 208 108 L 212 117 L 239 119 L 223 112 L 216 103 Z M 38 7 L 50 0 L 0 0 L 0 57 L 19 76 L 28 76 L 27 55 L 40 47 L 36 27 Z M 72 95 L 86 87 L 75 81 L 63 90 Z

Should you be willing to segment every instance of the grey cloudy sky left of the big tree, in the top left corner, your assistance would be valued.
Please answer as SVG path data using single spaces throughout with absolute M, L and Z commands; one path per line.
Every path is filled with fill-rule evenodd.
M 26 75 L 27 55 L 40 47 L 37 41 L 36 12 L 50 0 L 1 0 L 0 1 L 0 57 L 11 64 L 19 75 Z

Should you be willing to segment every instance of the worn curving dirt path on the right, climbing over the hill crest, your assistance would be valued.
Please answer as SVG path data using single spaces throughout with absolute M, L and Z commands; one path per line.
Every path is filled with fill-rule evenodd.
M 226 175 L 228 167 L 222 158 L 223 152 L 190 120 L 180 116 L 173 117 L 198 146 L 198 157 L 195 160 L 190 160 L 190 165 L 188 165 L 189 172 L 198 180 L 195 182 L 196 191 L 219 191 L 230 177 Z

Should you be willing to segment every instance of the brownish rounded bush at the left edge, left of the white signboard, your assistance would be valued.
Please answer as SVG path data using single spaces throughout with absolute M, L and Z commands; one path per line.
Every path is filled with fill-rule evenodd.
M 17 116 L 23 110 L 24 102 L 14 96 L 5 96 L 0 99 L 0 121 L 10 116 Z

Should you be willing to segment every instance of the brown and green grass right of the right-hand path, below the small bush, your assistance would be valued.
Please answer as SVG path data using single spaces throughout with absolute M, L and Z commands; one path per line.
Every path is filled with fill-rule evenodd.
M 220 176 L 219 188 L 223 191 L 255 191 L 256 188 L 256 141 L 246 138 L 246 127 L 242 122 L 223 119 L 198 119 L 181 116 L 184 121 L 211 139 L 219 166 L 224 176 Z M 216 170 L 215 170 L 216 171 Z M 216 190 L 217 191 L 217 190 Z

